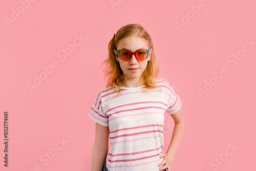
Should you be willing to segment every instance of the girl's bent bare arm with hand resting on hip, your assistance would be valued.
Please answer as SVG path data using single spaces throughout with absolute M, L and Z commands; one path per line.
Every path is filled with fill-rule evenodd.
M 170 169 L 170 165 L 173 163 L 175 155 L 178 151 L 178 148 L 182 142 L 182 139 L 186 130 L 186 116 L 183 113 L 182 109 L 180 109 L 177 113 L 171 114 L 173 117 L 175 126 L 173 131 L 172 140 L 170 141 L 169 147 L 167 149 L 166 154 L 160 155 L 160 158 L 164 157 L 165 159 L 159 163 L 159 166 L 165 164 L 160 170 L 167 168 Z

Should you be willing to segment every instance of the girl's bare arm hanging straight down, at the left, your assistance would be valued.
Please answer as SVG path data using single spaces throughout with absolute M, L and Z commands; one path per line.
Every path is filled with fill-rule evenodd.
M 102 171 L 109 151 L 109 126 L 96 122 L 92 154 L 92 170 Z

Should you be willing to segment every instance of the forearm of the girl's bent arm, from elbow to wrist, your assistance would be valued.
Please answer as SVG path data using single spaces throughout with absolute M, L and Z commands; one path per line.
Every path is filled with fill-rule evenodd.
M 173 162 L 176 156 L 176 153 L 184 137 L 185 131 L 186 121 L 175 124 L 172 140 L 170 141 L 169 147 L 166 152 L 166 155 L 168 156 L 169 160 L 171 160 L 171 162 Z

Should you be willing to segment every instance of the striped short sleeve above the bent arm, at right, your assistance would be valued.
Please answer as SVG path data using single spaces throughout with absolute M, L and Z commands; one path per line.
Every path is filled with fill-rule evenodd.
M 170 87 L 169 85 L 167 86 L 168 88 L 168 108 L 166 110 L 167 113 L 169 114 L 175 114 L 181 109 L 181 99 L 180 97 L 175 93 L 174 89 Z

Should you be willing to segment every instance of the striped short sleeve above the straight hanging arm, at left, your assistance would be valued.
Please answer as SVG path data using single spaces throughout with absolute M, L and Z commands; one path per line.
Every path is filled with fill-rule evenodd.
M 95 122 L 103 125 L 109 126 L 109 117 L 104 114 L 102 107 L 101 107 L 101 95 L 100 92 L 97 94 L 94 102 L 91 106 L 90 112 L 88 116 L 94 120 Z

